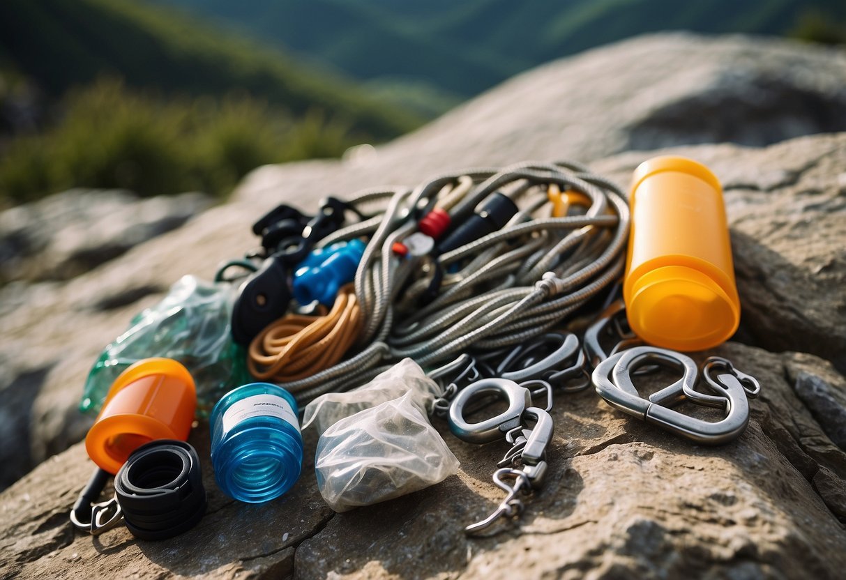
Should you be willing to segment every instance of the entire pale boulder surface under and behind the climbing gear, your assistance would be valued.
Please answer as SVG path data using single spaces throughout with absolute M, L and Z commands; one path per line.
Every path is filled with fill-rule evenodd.
M 846 130 L 843 87 L 843 51 L 682 35 L 627 41 L 521 75 L 370 155 L 261 168 L 228 205 L 69 282 L 0 289 L 3 450 L 30 449 L 17 466 L 14 454 L 2 457 L 4 468 L 70 446 L 0 495 L 0 575 L 842 576 L 846 133 L 785 139 Z M 720 140 L 775 145 L 692 145 Z M 91 420 L 75 406 L 97 353 L 179 276 L 211 277 L 255 245 L 250 224 L 273 205 L 311 209 L 324 194 L 530 158 L 591 161 L 627 183 L 640 161 L 667 151 L 705 162 L 726 191 L 744 312 L 736 342 L 717 352 L 762 385 L 737 442 L 692 446 L 592 392 L 562 395 L 549 479 L 521 526 L 466 539 L 462 526 L 501 499 L 490 476 L 503 446 L 470 446 L 442 429 L 458 476 L 333 515 L 310 467 L 277 501 L 228 500 L 201 425 L 191 440 L 210 506 L 198 528 L 163 543 L 70 528 L 67 510 L 91 471 L 84 447 L 71 446 Z M 307 438 L 306 457 L 314 447 Z

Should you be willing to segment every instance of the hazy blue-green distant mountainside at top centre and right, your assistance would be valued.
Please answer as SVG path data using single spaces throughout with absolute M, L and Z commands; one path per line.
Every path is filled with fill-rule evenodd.
M 472 96 L 525 68 L 657 30 L 783 36 L 842 0 L 148 0 L 238 25 L 359 79 L 398 77 Z

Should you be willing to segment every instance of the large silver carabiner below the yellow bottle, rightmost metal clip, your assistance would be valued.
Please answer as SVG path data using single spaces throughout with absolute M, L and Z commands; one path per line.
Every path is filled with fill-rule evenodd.
M 649 399 L 645 399 L 640 397 L 630 377 L 634 369 L 641 364 L 671 364 L 683 369 L 684 376 L 672 385 L 652 394 Z M 727 364 L 727 368 L 733 372 L 717 375 L 717 380 L 711 378 L 711 369 L 717 365 L 726 366 Z M 629 413 L 698 443 L 708 445 L 728 443 L 743 433 L 749 423 L 749 402 L 746 399 L 746 391 L 756 394 L 755 388 L 760 387 L 752 377 L 743 375 L 743 380 L 751 385 L 744 388 L 740 382 L 740 375 L 725 359 L 711 360 L 710 364 L 706 363 L 705 368 L 706 382 L 713 391 L 718 393 L 717 396 L 695 391 L 698 371 L 691 358 L 657 347 L 634 347 L 607 358 L 596 366 L 592 380 L 600 397 L 624 413 Z M 609 379 L 608 375 L 613 375 L 613 380 Z M 725 416 L 711 423 L 667 407 L 684 400 L 698 405 L 722 408 Z

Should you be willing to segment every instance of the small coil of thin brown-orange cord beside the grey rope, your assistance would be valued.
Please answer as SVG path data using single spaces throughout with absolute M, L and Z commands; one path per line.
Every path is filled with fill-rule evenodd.
M 247 367 L 260 380 L 305 379 L 337 363 L 358 337 L 361 310 L 347 284 L 324 316 L 286 315 L 250 342 Z

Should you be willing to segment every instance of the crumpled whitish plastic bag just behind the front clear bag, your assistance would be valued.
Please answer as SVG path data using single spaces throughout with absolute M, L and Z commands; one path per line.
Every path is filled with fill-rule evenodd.
M 441 396 L 441 387 L 411 358 L 404 358 L 365 386 L 353 391 L 332 392 L 317 397 L 305 407 L 303 429 L 314 424 L 318 435 L 344 417 L 412 393 L 415 404 L 426 414 Z

